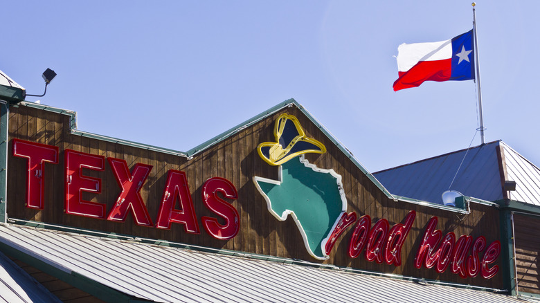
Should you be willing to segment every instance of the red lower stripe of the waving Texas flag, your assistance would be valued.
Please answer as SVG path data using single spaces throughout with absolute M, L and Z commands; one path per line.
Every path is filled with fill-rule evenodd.
M 424 81 L 447 81 L 452 73 L 452 59 L 420 61 L 408 71 L 400 71 L 394 91 L 420 86 Z

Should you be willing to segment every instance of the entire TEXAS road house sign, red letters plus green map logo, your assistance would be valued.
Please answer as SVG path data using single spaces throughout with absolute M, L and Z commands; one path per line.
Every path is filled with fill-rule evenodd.
M 341 176 L 334 169 L 317 167 L 305 158 L 306 154 L 325 154 L 327 149 L 323 143 L 309 138 L 299 120 L 287 113 L 276 119 L 273 135 L 275 141 L 260 143 L 257 152 L 266 165 L 278 167 L 278 179 L 253 176 L 252 180 L 273 217 L 285 221 L 290 215 L 294 219 L 309 255 L 319 260 L 328 259 L 336 241 L 354 226 L 348 239 L 348 257 L 354 259 L 363 255 L 367 261 L 402 265 L 402 247 L 417 213 L 411 210 L 402 223 L 393 226 L 384 218 L 372 224 L 370 215 L 358 217 L 356 212 L 348 210 Z M 152 172 L 152 165 L 136 163 L 130 169 L 120 158 L 73 149 L 65 149 L 63 154 L 65 214 L 118 222 L 131 215 L 138 226 L 170 230 L 172 223 L 177 223 L 186 233 L 200 234 L 186 172 L 176 169 L 166 172 L 157 215 L 152 217 L 141 196 L 141 188 Z M 46 169 L 48 165 L 58 165 L 59 155 L 59 147 L 53 145 L 18 138 L 12 140 L 12 156 L 26 159 L 26 208 L 43 210 L 48 207 L 44 199 L 45 185 L 51 186 L 55 180 Z M 105 203 L 84 199 L 85 192 L 99 194 L 102 190 L 101 179 L 89 176 L 87 172 L 103 172 L 106 162 L 120 190 L 109 209 Z M 236 187 L 226 178 L 213 176 L 201 184 L 201 201 L 213 214 L 212 217 L 200 217 L 208 235 L 219 240 L 238 235 L 242 228 L 241 218 L 231 203 L 236 199 L 239 199 Z M 460 235 L 456 239 L 453 232 L 443 235 L 437 229 L 437 223 L 438 217 L 433 216 L 425 227 L 415 254 L 415 268 L 424 266 L 438 273 L 450 268 L 452 273 L 463 278 L 480 274 L 490 279 L 496 275 L 498 265 L 494 263 L 501 253 L 499 241 L 488 246 L 483 236 L 473 239 L 469 235 Z

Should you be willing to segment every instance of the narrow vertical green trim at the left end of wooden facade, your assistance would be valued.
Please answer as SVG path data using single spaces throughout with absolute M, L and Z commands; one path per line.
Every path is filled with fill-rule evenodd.
M 9 104 L 0 100 L 0 223 L 6 223 L 8 217 L 8 120 Z

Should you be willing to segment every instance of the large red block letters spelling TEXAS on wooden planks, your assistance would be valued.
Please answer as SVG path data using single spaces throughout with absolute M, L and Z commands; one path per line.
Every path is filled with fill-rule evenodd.
M 43 209 L 44 180 L 46 180 L 44 163 L 58 163 L 58 147 L 19 139 L 13 139 L 12 142 L 13 156 L 28 159 L 26 206 Z M 152 165 L 136 163 L 132 172 L 129 172 L 125 160 L 116 158 L 107 158 L 107 160 L 121 192 L 106 217 L 105 203 L 86 201 L 82 198 L 83 192 L 100 194 L 101 179 L 87 176 L 84 173 L 87 172 L 87 169 L 97 172 L 105 171 L 105 156 L 77 152 L 71 149 L 64 151 L 66 177 L 64 212 L 118 222 L 125 221 L 127 213 L 131 212 L 137 225 L 154 226 L 141 196 L 141 188 L 152 171 Z M 203 187 L 202 195 L 206 208 L 217 214 L 218 218 L 223 219 L 225 224 L 222 225 L 213 217 L 201 217 L 201 221 L 208 235 L 215 237 L 215 239 L 231 239 L 240 230 L 240 216 L 231 203 L 217 195 L 218 192 L 227 199 L 237 199 L 238 194 L 234 185 L 224 178 L 209 178 Z M 174 169 L 168 172 L 161 201 L 156 228 L 170 229 L 172 223 L 181 223 L 186 232 L 200 233 L 186 173 Z M 180 210 L 174 208 L 176 201 L 179 201 Z

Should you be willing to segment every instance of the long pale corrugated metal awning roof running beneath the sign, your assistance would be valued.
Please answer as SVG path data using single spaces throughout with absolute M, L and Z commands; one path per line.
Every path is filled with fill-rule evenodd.
M 523 302 L 485 291 L 23 226 L 0 226 L 0 242 L 62 272 L 155 302 Z

